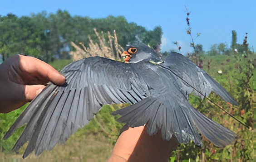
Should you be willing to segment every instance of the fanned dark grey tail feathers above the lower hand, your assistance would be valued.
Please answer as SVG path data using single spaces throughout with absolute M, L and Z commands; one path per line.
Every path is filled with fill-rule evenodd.
M 217 147 L 225 147 L 236 137 L 231 130 L 207 118 L 188 102 L 178 104 L 174 101 L 170 107 L 166 107 L 157 99 L 147 97 L 112 114 L 121 115 L 118 121 L 126 123 L 122 130 L 146 124 L 149 135 L 161 129 L 164 140 L 170 140 L 174 134 L 179 143 L 188 143 L 192 140 L 195 144 L 202 145 L 202 138 L 199 135 L 201 133 Z

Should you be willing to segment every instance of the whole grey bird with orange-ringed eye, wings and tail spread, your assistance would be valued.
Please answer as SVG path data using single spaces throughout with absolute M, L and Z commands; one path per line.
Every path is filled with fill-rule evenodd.
M 202 146 L 202 135 L 217 147 L 231 144 L 236 134 L 197 111 L 188 95 L 207 97 L 212 91 L 226 102 L 236 100 L 211 76 L 177 52 L 165 59 L 143 43 L 129 45 L 121 54 L 124 62 L 104 57 L 88 57 L 72 62 L 60 73 L 62 86 L 49 83 L 30 102 L 5 133 L 10 137 L 26 125 L 13 150 L 28 142 L 27 157 L 65 143 L 77 129 L 106 104 L 130 104 L 112 112 L 128 127 L 147 126 L 149 135 L 161 131 L 163 140 L 174 135 L 179 143 L 193 141 Z

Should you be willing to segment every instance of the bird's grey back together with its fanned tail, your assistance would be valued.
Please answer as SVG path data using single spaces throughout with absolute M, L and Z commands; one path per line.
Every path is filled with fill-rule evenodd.
M 170 140 L 175 135 L 179 143 L 192 140 L 195 144 L 202 145 L 199 133 L 218 147 L 234 141 L 235 133 L 207 118 L 189 104 L 175 75 L 166 68 L 151 67 L 155 72 L 148 69 L 147 74 L 140 74 L 146 84 L 150 85 L 151 95 L 134 105 L 113 112 L 113 115 L 121 115 L 119 122 L 126 123 L 127 127 L 146 124 L 149 135 L 161 129 L 164 140 Z

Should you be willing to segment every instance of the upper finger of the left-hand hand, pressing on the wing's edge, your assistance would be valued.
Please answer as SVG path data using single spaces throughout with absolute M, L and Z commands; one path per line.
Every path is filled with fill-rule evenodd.
M 20 55 L 20 66 L 23 71 L 34 75 L 35 78 L 44 78 L 44 81 L 51 81 L 56 85 L 63 85 L 66 81 L 65 77 L 62 76 L 57 70 L 55 70 L 49 64 L 34 57 Z

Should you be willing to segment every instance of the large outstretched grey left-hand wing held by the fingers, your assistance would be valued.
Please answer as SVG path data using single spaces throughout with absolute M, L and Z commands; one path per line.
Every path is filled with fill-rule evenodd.
M 50 83 L 30 103 L 11 126 L 4 138 L 10 137 L 21 125 L 27 124 L 13 150 L 26 143 L 23 157 L 33 150 L 39 155 L 64 143 L 78 128 L 83 127 L 105 104 L 134 104 L 150 95 L 134 64 L 103 57 L 89 57 L 63 68 L 64 86 Z

